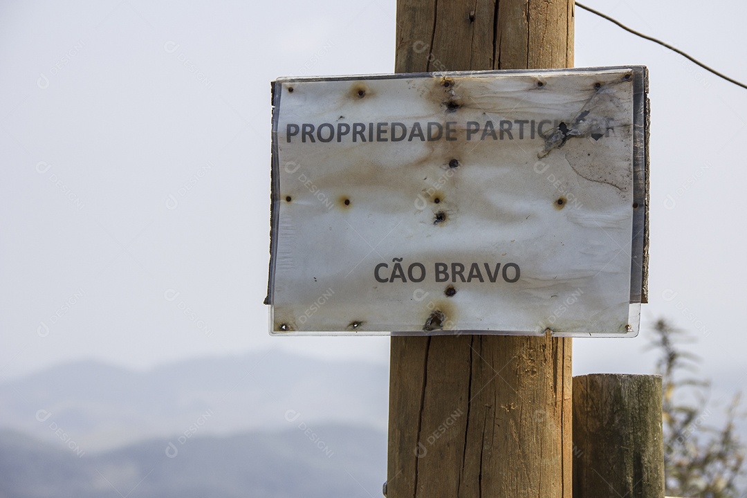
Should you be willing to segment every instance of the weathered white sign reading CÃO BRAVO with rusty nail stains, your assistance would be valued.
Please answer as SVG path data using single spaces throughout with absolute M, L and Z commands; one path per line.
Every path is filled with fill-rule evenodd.
M 270 332 L 634 336 L 645 68 L 273 83 Z

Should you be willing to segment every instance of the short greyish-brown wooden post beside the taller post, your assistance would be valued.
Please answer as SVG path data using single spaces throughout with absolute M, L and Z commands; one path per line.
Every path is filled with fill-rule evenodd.
M 661 376 L 573 379 L 574 498 L 664 496 Z

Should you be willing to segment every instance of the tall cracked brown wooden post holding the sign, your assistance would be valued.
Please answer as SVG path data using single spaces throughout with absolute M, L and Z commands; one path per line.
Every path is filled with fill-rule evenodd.
M 397 0 L 396 71 L 572 66 L 573 9 Z M 388 445 L 388 498 L 570 497 L 571 340 L 391 337 Z

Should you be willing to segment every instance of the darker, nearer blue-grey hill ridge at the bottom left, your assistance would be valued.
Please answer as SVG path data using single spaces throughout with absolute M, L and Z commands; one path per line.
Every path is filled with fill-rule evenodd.
M 313 437 L 311 436 L 313 435 Z M 386 435 L 339 425 L 166 438 L 84 452 L 0 431 L 0 497 L 369 498 L 386 479 Z

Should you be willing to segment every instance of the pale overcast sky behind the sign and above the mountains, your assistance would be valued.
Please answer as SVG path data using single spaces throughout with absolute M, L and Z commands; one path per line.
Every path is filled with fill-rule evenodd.
M 747 81 L 744 2 L 586 1 Z M 0 380 L 271 347 L 388 361 L 386 337 L 270 337 L 262 300 L 270 81 L 392 72 L 394 0 L 182 3 L 0 4 Z M 747 90 L 580 9 L 575 58 L 650 70 L 651 302 L 636 339 L 574 340 L 574 373 L 651 372 L 666 317 L 736 390 Z

